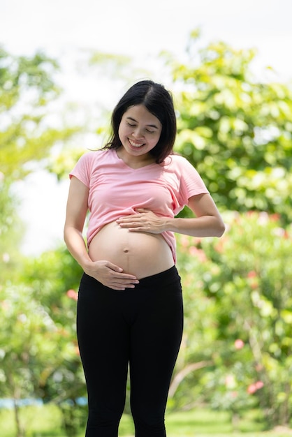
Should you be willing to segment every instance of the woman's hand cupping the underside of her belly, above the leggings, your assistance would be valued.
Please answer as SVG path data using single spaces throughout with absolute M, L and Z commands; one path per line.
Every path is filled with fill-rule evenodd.
M 135 284 L 139 283 L 136 276 L 123 273 L 121 267 L 112 264 L 110 261 L 92 261 L 87 266 L 83 266 L 83 269 L 86 274 L 113 290 L 135 288 Z

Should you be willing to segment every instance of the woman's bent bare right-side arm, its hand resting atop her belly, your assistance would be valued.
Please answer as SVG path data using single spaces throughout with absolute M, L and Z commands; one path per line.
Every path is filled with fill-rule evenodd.
M 131 232 L 150 232 L 159 234 L 171 230 L 193 237 L 221 237 L 225 230 L 224 222 L 210 194 L 194 195 L 189 199 L 189 207 L 194 218 L 168 218 L 156 216 L 147 209 L 137 209 L 137 214 L 119 218 L 122 228 Z

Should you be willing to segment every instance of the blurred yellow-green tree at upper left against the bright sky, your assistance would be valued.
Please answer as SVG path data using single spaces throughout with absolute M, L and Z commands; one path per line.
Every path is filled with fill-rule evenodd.
M 80 128 L 53 117 L 61 90 L 55 84 L 57 62 L 45 54 L 16 57 L 0 47 L 0 260 L 2 276 L 13 279 L 21 260 L 23 225 L 17 218 L 13 182 L 46 165 L 52 147 L 64 144 Z M 54 108 L 55 114 L 60 112 Z M 3 283 L 3 282 L 2 282 Z

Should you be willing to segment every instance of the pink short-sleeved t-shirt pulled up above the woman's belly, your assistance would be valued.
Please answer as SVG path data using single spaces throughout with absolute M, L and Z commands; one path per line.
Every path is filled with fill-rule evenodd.
M 107 223 L 150 209 L 158 216 L 173 218 L 193 195 L 208 193 L 196 169 L 180 155 L 163 163 L 133 169 L 117 156 L 115 149 L 89 151 L 81 156 L 70 173 L 89 188 L 87 245 Z M 162 232 L 175 256 L 175 235 Z

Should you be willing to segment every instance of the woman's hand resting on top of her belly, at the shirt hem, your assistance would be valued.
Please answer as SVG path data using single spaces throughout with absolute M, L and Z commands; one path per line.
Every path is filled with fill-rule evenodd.
M 150 234 L 161 234 L 165 217 L 159 217 L 149 209 L 137 208 L 137 214 L 125 216 L 117 219 L 121 228 L 128 228 L 131 232 L 149 232 Z

